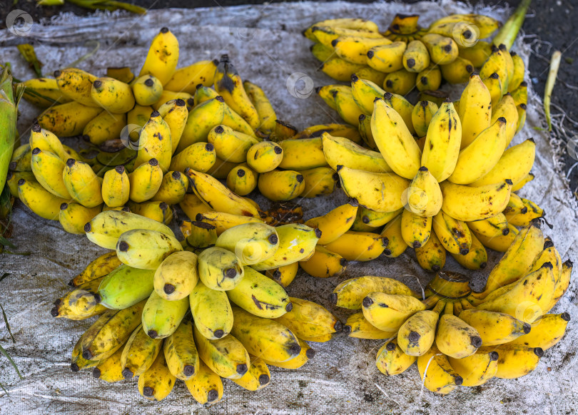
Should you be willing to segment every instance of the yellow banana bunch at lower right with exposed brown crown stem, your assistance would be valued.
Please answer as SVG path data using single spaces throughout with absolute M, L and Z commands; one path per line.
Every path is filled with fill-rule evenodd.
M 417 361 L 425 387 L 448 394 L 532 372 L 564 336 L 569 314 L 547 313 L 571 274 L 572 262 L 562 263 L 534 221 L 492 269 L 484 292 L 472 292 L 464 275 L 438 272 L 420 301 L 401 282 L 366 276 L 342 282 L 330 301 L 362 310 L 343 327 L 350 337 L 387 339 L 377 352 L 380 372 L 400 374 Z

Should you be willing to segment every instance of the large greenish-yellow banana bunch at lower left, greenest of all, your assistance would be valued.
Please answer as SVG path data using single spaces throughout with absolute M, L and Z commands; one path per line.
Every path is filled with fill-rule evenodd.
M 179 242 L 160 222 L 111 210 L 88 222 L 86 235 L 115 251 L 74 277 L 51 311 L 100 315 L 73 348 L 71 369 L 92 367 L 108 382 L 138 376 L 146 399 L 164 399 L 177 378 L 201 404 L 221 399 L 221 378 L 261 389 L 268 366 L 302 367 L 315 354 L 307 342 L 327 342 L 342 327 L 259 272 L 312 255 L 320 231 L 311 227 L 245 223 L 217 235 L 198 222 Z

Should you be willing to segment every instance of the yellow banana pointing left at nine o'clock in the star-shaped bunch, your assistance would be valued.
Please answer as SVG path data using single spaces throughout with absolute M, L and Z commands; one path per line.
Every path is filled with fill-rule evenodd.
M 371 173 L 338 165 L 338 174 L 341 187 L 350 198 L 377 212 L 392 212 L 402 207 L 402 194 L 410 185 L 409 180 L 395 173 Z

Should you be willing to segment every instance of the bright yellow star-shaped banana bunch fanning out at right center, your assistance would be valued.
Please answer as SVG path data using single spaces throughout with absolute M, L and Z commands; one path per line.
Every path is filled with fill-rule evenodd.
M 504 56 L 510 57 L 495 48 L 482 70 L 497 70 L 496 59 Z M 521 79 L 506 70 L 502 76 Z M 477 270 L 486 265 L 485 247 L 504 252 L 516 226 L 543 215 L 535 203 L 512 193 L 534 178 L 534 140 L 509 147 L 524 125 L 527 93 L 498 88 L 493 96 L 490 88 L 473 73 L 460 100 L 439 107 L 432 101 L 413 106 L 355 74 L 351 86 L 318 88 L 343 120 L 358 125 L 365 143 L 322 136 L 341 188 L 362 206 L 353 230 L 377 232 L 385 225 L 380 235 L 387 237 L 388 255 L 413 247 L 425 270 L 442 269 L 446 252 Z M 524 84 L 515 91 L 522 89 Z

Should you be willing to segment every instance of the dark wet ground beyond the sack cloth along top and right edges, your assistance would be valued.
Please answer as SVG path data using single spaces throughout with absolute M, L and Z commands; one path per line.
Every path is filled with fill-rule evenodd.
M 354 0 L 355 1 L 355 0 Z M 406 0 L 414 3 L 415 0 Z M 472 4 L 509 4 L 517 6 L 520 0 L 472 0 Z M 188 7 L 196 8 L 202 6 L 230 6 L 236 4 L 261 4 L 263 1 L 248 0 L 128 0 L 133 4 L 138 4 L 146 9 L 163 9 L 167 7 Z M 360 0 L 361 3 L 370 1 Z M 0 0 L 0 28 L 5 26 L 6 15 L 12 9 L 21 9 L 29 13 L 36 21 L 42 17 L 50 17 L 60 11 L 72 11 L 75 14 L 83 15 L 91 11 L 78 6 L 66 4 L 64 6 L 36 6 L 36 0 Z M 577 0 L 534 0 L 529 9 L 522 29 L 526 34 L 533 34 L 535 37 L 527 39 L 532 43 L 534 53 L 530 58 L 529 70 L 532 76 L 530 80 L 534 89 L 542 96 L 544 83 L 548 76 L 549 57 L 552 51 L 563 52 L 562 63 L 560 65 L 558 81 L 552 94 L 552 114 L 560 113 L 559 108 L 563 108 L 566 113 L 564 128 L 567 130 L 567 137 L 572 138 L 578 131 L 578 1 Z M 575 120 L 575 122 L 574 122 Z M 578 137 L 578 136 L 577 136 Z M 578 143 L 578 138 L 576 138 Z M 578 197 L 578 150 L 576 145 L 570 146 L 570 150 L 564 148 L 562 162 L 564 172 L 569 172 L 570 188 L 574 195 Z M 572 166 L 574 166 L 572 168 Z

